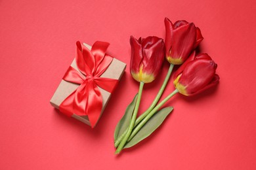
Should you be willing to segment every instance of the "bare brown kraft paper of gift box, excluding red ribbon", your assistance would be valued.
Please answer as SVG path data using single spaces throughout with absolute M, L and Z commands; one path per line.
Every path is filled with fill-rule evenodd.
M 89 46 L 88 44 L 83 43 L 83 45 L 86 46 L 89 50 L 91 50 L 91 46 Z M 71 66 L 78 71 L 75 59 L 72 61 Z M 125 67 L 126 67 L 125 63 L 119 61 L 116 58 L 113 58 L 112 62 L 110 63 L 106 71 L 104 71 L 104 73 L 102 73 L 100 77 L 113 78 L 116 80 L 120 80 L 121 76 L 124 73 Z M 68 97 L 68 95 L 74 92 L 78 87 L 79 87 L 79 84 L 74 84 L 72 82 L 67 82 L 66 80 L 61 80 L 58 88 L 56 89 L 56 92 L 51 98 L 51 101 L 50 101 L 51 105 L 53 105 L 53 107 L 55 107 L 56 109 L 59 109 L 62 101 L 64 101 L 64 99 L 66 99 L 66 97 Z M 100 93 L 102 95 L 102 110 L 100 113 L 100 116 L 101 116 L 106 105 L 108 104 L 111 93 L 107 92 L 106 90 L 103 90 L 100 87 L 98 87 L 98 89 L 100 90 Z M 87 115 L 79 116 L 74 112 L 74 114 L 72 114 L 72 117 L 91 126 L 91 123 L 89 122 L 89 118 Z

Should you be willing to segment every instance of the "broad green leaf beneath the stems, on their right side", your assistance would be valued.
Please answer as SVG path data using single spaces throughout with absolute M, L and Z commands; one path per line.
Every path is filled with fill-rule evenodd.
M 151 135 L 151 133 L 153 133 L 163 123 L 163 120 L 165 120 L 172 110 L 173 107 L 165 107 L 156 112 L 156 114 L 154 114 L 154 116 L 152 116 L 152 118 L 150 118 L 150 120 L 148 120 L 148 122 L 141 127 L 140 131 L 138 131 L 133 139 L 125 144 L 124 148 L 130 148 Z

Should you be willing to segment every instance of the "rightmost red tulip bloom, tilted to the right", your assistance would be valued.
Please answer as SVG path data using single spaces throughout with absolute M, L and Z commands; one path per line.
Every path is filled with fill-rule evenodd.
M 174 86 L 183 95 L 194 95 L 219 83 L 217 64 L 208 54 L 193 52 L 175 73 Z

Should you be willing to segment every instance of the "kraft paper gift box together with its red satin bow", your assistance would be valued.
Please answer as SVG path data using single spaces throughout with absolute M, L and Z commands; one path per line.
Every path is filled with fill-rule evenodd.
M 60 112 L 91 127 L 98 122 L 126 67 L 106 54 L 108 45 L 77 42 L 75 59 L 50 101 Z

